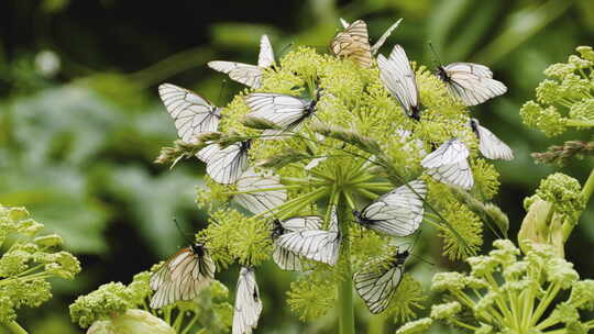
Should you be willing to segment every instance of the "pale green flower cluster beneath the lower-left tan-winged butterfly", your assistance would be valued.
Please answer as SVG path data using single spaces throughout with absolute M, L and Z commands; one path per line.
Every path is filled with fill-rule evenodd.
M 152 271 L 158 269 L 158 265 Z M 153 310 L 148 300 L 151 271 L 134 276 L 125 286 L 121 282 L 102 285 L 96 291 L 79 297 L 70 305 L 70 316 L 90 333 L 227 333 L 233 316 L 233 307 L 227 302 L 229 290 L 213 280 L 200 291 L 195 301 L 178 301 Z M 111 331 L 111 332 L 110 332 Z

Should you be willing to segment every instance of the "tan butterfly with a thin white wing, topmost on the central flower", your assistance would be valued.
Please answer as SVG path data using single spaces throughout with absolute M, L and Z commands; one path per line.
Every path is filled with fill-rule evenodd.
M 330 49 L 339 57 L 351 57 L 361 66 L 371 67 L 372 56 L 374 56 L 380 47 L 384 45 L 384 42 L 386 42 L 392 32 L 398 27 L 400 21 L 403 21 L 403 19 L 396 21 L 396 23 L 388 27 L 382 37 L 380 37 L 372 46 L 370 44 L 367 24 L 365 21 L 356 20 L 349 24 L 346 21 L 340 19 L 344 31 L 338 33 L 334 40 L 332 40 Z

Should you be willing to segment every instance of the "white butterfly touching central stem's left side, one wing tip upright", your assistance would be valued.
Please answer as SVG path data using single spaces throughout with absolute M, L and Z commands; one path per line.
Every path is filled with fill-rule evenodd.
M 328 231 L 319 229 L 285 233 L 278 237 L 277 244 L 305 258 L 333 266 L 339 258 L 341 242 L 337 211 L 332 208 Z

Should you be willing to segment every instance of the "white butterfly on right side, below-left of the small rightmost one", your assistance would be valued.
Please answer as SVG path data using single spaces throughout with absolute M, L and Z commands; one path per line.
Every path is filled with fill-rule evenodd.
M 451 186 L 470 189 L 474 186 L 468 157 L 469 148 L 458 138 L 449 140 L 421 160 L 427 174 Z

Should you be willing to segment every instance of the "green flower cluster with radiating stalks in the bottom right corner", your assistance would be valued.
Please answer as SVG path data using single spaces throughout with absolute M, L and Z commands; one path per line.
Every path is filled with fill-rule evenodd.
M 470 274 L 437 274 L 431 289 L 443 293 L 443 303 L 396 333 L 424 333 L 438 321 L 481 334 L 594 330 L 594 320 L 580 316 L 594 310 L 594 280 L 580 280 L 573 265 L 558 257 L 554 247 L 527 242 L 521 257 L 508 240 L 497 240 L 493 246 L 488 255 L 466 259 Z M 552 303 L 568 290 L 569 299 Z

